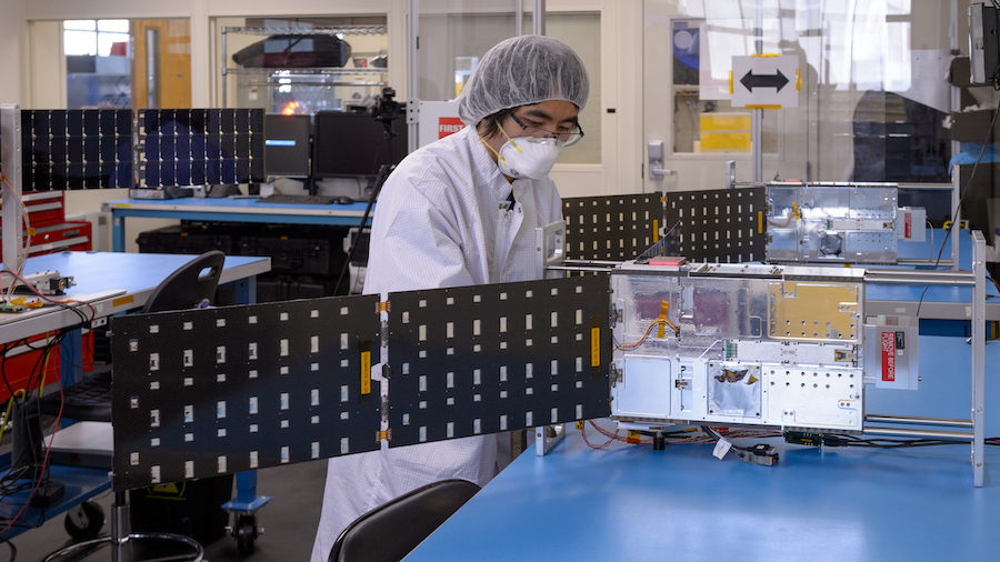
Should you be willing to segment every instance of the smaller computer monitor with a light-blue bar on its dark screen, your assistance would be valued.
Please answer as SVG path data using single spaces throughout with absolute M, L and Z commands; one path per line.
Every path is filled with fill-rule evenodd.
M 264 169 L 269 178 L 309 177 L 311 116 L 268 113 L 264 118 Z

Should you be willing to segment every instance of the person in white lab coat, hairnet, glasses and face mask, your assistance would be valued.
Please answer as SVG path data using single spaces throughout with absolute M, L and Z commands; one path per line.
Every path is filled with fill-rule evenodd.
M 582 137 L 588 93 L 583 62 L 556 39 L 490 49 L 459 98 L 467 127 L 408 155 L 386 181 L 364 292 L 536 279 L 534 229 L 562 220 L 549 171 Z M 482 435 L 330 459 L 312 562 L 326 562 L 359 515 L 410 490 L 453 478 L 484 485 L 497 448 Z

